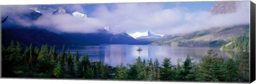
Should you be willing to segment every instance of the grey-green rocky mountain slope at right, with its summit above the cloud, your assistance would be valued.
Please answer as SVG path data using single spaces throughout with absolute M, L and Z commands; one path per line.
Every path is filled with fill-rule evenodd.
M 237 3 L 234 1 L 218 2 L 213 5 L 210 13 L 213 15 L 227 14 L 236 12 Z M 231 40 L 243 37 L 249 32 L 249 24 L 238 24 L 229 27 L 216 27 L 206 30 L 185 33 L 183 35 L 174 35 L 164 39 L 156 40 L 152 45 L 170 45 L 170 46 L 214 46 L 231 45 Z M 235 44 L 235 43 L 234 43 Z

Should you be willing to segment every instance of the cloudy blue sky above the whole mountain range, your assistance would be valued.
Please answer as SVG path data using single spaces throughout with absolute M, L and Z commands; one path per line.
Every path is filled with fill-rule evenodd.
M 110 4 L 51 4 L 4 5 L 1 15 L 12 15 L 22 26 L 38 26 L 55 32 L 97 32 L 110 27 L 112 33 L 151 31 L 162 35 L 188 33 L 215 27 L 250 23 L 250 2 L 236 2 L 236 12 L 213 15 L 210 9 L 217 2 L 110 3 Z M 20 18 L 30 7 L 64 7 L 69 12 L 81 12 L 89 18 L 70 14 L 43 15 L 35 21 Z

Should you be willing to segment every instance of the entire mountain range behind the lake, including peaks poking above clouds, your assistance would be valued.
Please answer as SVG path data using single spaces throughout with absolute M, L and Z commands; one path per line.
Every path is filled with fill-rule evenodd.
M 226 5 L 225 5 L 226 4 Z M 234 3 L 221 2 L 214 5 L 211 9 L 213 14 L 226 14 L 235 11 Z M 222 8 L 222 9 L 221 9 Z M 225 8 L 225 10 L 223 10 Z M 28 9 L 29 13 L 19 15 L 21 18 L 37 20 L 42 15 L 70 14 L 74 18 L 90 18 L 80 12 L 69 12 L 67 9 L 58 7 L 53 10 L 50 7 L 33 7 Z M 52 32 L 39 27 L 23 27 L 15 24 L 12 17 L 2 24 L 3 45 L 9 45 L 11 40 L 19 41 L 22 45 L 29 46 L 30 43 L 40 46 L 42 44 L 70 46 L 78 45 L 101 45 L 101 44 L 142 44 L 142 45 L 168 45 L 168 46 L 186 46 L 186 47 L 223 47 L 223 49 L 232 48 L 237 44 L 237 40 L 243 41 L 250 30 L 249 24 L 216 27 L 183 33 L 179 35 L 158 35 L 150 31 L 146 32 L 118 32 L 113 33 L 115 27 L 109 26 L 99 29 L 94 33 L 67 33 Z M 242 39 L 242 40 L 241 40 Z M 237 44 L 239 45 L 239 44 Z M 231 47 L 230 47 L 231 46 Z M 234 46 L 233 46 L 234 48 Z

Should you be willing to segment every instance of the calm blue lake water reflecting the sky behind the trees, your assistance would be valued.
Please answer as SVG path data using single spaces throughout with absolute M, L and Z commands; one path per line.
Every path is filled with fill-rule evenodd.
M 141 48 L 142 51 L 138 52 L 137 49 Z M 193 58 L 193 62 L 199 62 L 203 56 L 206 55 L 209 49 L 213 49 L 215 53 L 218 53 L 218 57 L 222 57 L 224 60 L 229 58 L 237 59 L 237 53 L 233 51 L 221 51 L 216 47 L 173 47 L 173 46 L 158 46 L 158 45 L 99 45 L 99 46 L 81 46 L 72 47 L 70 51 L 73 54 L 76 50 L 79 52 L 79 56 L 88 54 L 92 61 L 104 61 L 111 66 L 116 66 L 121 63 L 132 64 L 135 58 L 141 57 L 143 59 L 150 60 L 152 58 L 155 61 L 158 58 L 159 63 L 165 57 L 170 57 L 172 64 L 177 65 L 177 60 L 185 61 L 187 55 Z M 61 53 L 62 47 L 57 47 L 57 53 Z M 66 48 L 67 52 L 67 48 Z

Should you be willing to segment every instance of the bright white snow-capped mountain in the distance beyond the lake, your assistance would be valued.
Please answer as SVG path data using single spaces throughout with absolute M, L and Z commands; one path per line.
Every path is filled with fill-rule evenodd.
M 151 33 L 150 31 L 135 32 L 135 33 L 130 33 L 129 35 L 135 39 L 138 39 L 140 37 L 163 37 L 164 36 L 164 35 L 157 35 L 157 34 Z

